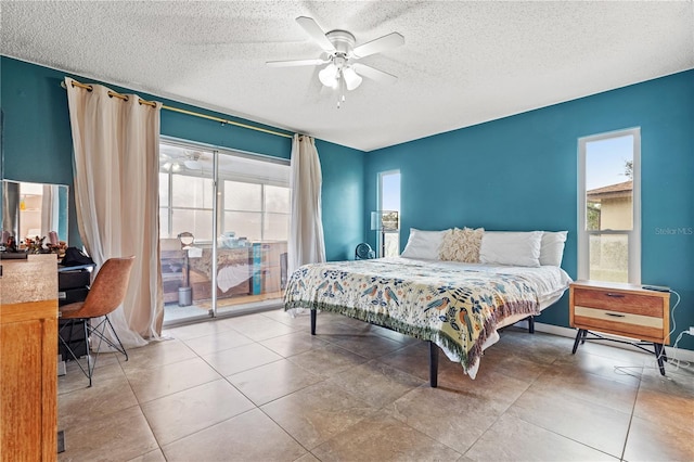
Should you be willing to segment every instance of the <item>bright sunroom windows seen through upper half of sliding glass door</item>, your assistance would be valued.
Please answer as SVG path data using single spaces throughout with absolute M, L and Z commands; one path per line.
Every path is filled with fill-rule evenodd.
M 160 238 L 192 232 L 197 242 L 214 235 L 215 152 L 162 142 Z M 242 153 L 218 153 L 218 233 L 248 241 L 286 241 L 290 230 L 290 166 Z

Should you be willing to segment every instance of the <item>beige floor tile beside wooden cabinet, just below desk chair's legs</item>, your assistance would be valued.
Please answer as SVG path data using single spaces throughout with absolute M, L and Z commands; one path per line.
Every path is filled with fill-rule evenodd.
M 117 364 L 105 369 L 118 368 Z M 103 370 L 102 370 L 103 371 Z M 87 378 L 82 375 L 85 385 Z M 105 380 L 95 380 L 89 388 L 65 393 L 57 397 L 59 428 L 66 429 L 92 419 L 110 415 L 138 405 L 126 376 L 120 373 Z

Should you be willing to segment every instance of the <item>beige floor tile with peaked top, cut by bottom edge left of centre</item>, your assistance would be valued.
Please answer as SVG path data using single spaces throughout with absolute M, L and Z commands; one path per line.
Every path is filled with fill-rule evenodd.
M 164 446 L 168 461 L 294 461 L 307 451 L 259 410 Z

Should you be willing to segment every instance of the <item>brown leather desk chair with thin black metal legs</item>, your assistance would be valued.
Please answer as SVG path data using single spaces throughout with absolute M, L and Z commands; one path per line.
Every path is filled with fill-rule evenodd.
M 94 282 L 91 284 L 89 294 L 85 301 L 77 301 L 69 305 L 63 305 L 60 307 L 61 319 L 67 319 L 72 322 L 66 323 L 57 333 L 61 345 L 69 352 L 70 357 L 77 362 L 79 369 L 82 370 L 85 375 L 89 378 L 89 386 L 91 386 L 91 377 L 94 372 L 94 365 L 99 351 L 101 350 L 102 342 L 105 342 L 112 348 L 121 352 L 128 360 L 128 354 L 126 352 L 120 338 L 113 329 L 113 324 L 108 320 L 108 315 L 112 313 L 123 303 L 126 291 L 128 290 L 128 281 L 130 280 L 130 270 L 132 269 L 132 262 L 134 257 L 126 258 L 111 258 L 101 267 Z M 103 318 L 97 320 L 95 318 Z M 75 351 L 69 347 L 67 342 L 62 336 L 64 329 L 72 329 L 73 324 L 81 322 L 85 329 L 85 338 L 87 338 L 87 369 L 79 362 Z M 95 323 L 95 325 L 92 325 Z M 111 332 L 118 342 L 116 345 L 110 338 L 104 336 L 106 326 L 111 328 Z M 99 346 L 97 347 L 97 356 L 94 360 L 91 360 L 89 348 L 89 336 L 93 335 L 99 338 Z

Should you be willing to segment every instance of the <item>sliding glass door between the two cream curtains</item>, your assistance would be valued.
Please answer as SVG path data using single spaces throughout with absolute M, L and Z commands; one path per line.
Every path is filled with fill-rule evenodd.
M 159 166 L 165 323 L 277 304 L 288 163 L 167 140 Z

